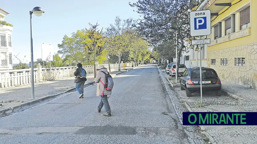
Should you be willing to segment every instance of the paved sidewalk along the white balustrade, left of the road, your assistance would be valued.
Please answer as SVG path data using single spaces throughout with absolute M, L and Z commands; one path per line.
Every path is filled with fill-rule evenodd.
M 127 70 L 132 67 L 126 67 Z M 121 69 L 121 72 L 127 71 Z M 115 76 L 121 73 L 118 69 L 111 69 L 111 75 Z M 85 84 L 94 81 L 94 73 L 87 73 L 87 81 Z M 54 95 L 75 87 L 74 77 L 66 77 L 53 81 L 43 81 L 35 83 L 35 99 Z M 11 87 L 1 89 L 0 91 L 0 110 L 21 104 L 22 102 L 31 101 L 31 84 L 19 87 Z

